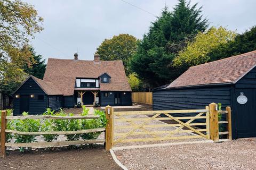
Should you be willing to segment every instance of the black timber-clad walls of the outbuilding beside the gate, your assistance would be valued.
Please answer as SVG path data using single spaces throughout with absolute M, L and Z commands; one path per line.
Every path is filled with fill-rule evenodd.
M 241 94 L 247 97 L 246 104 L 237 102 L 237 97 Z M 256 137 L 255 67 L 235 84 L 206 84 L 170 89 L 161 87 L 153 91 L 154 110 L 204 109 L 210 103 L 221 103 L 222 110 L 231 106 L 233 139 Z

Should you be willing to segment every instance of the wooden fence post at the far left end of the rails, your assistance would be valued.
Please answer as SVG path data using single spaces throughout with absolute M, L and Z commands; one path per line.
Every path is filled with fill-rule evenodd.
M 6 111 L 2 111 L 2 113 L 1 113 L 1 155 L 3 158 L 6 157 L 6 147 L 5 147 L 6 126 L 7 126 Z

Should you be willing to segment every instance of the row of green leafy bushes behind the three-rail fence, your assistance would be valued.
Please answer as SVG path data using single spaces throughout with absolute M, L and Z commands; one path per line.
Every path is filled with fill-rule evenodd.
M 87 116 L 89 109 L 85 106 L 83 107 L 82 116 Z M 7 115 L 12 114 L 12 109 L 7 110 Z M 28 115 L 27 112 L 22 113 L 23 116 Z M 54 111 L 51 111 L 50 108 L 47 108 L 43 115 L 54 115 L 54 116 L 74 116 L 73 113 L 65 113 L 62 109 L 55 114 Z M 7 129 L 17 130 L 21 132 L 38 132 L 38 131 L 78 131 L 86 129 L 95 129 L 95 128 L 105 128 L 107 124 L 107 119 L 103 111 L 94 110 L 94 115 L 98 115 L 97 119 L 82 119 L 82 120 L 53 120 L 53 119 L 44 119 L 44 120 L 34 120 L 34 119 L 25 119 L 25 120 L 8 120 Z M 0 119 L 1 123 L 1 119 Z M 80 138 L 88 139 L 97 139 L 101 132 L 92 132 L 85 134 L 69 134 L 66 135 L 67 140 L 79 140 Z M 46 142 L 52 142 L 57 140 L 58 134 L 44 134 L 44 140 Z M 36 141 L 36 135 L 19 135 L 12 133 L 6 134 L 6 141 L 14 138 L 16 143 L 30 143 Z M 20 148 L 20 151 L 25 151 L 30 148 Z

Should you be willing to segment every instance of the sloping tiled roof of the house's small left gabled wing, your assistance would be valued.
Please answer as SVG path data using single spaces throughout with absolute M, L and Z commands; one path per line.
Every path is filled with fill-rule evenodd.
M 38 79 L 34 77 L 33 75 L 30 75 L 31 78 L 33 78 L 37 84 L 44 90 L 44 92 L 47 95 L 63 95 L 63 93 L 54 86 L 51 82 L 45 82 L 44 80 Z

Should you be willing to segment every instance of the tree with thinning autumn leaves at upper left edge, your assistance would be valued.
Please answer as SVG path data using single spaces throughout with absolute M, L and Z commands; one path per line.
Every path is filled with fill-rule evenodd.
M 0 0 L 0 11 L 0 92 L 10 94 L 26 78 L 23 65 L 33 64 L 29 38 L 43 30 L 43 19 L 19 0 Z

